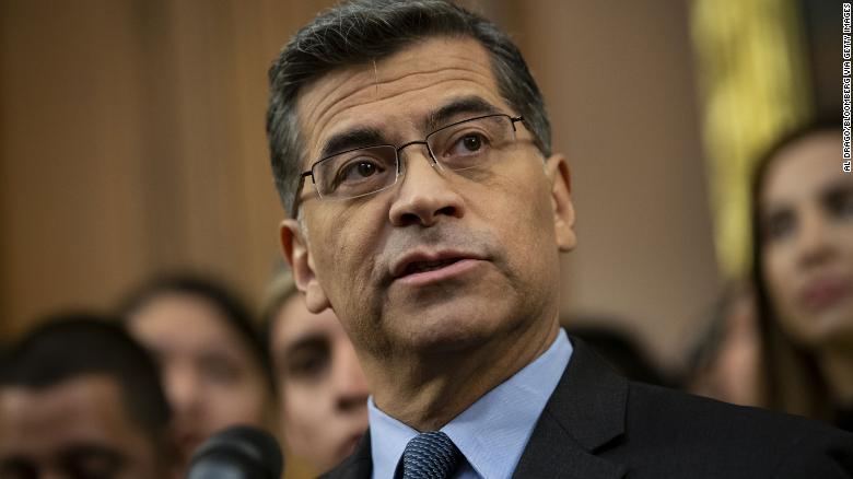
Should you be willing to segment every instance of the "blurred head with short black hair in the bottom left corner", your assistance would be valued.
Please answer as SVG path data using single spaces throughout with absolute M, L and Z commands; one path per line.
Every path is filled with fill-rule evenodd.
M 178 477 L 148 352 L 100 316 L 39 323 L 0 365 L 0 478 Z

